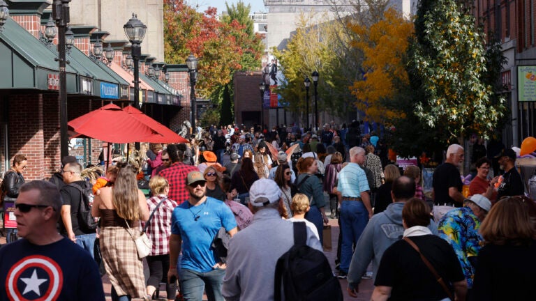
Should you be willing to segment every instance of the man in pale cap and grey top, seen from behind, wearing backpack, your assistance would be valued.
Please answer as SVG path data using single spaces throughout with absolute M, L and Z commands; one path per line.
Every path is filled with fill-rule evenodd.
M 274 180 L 256 180 L 249 199 L 255 216 L 230 241 L 222 294 L 228 300 L 274 300 L 276 262 L 294 245 L 294 228 L 281 219 L 283 199 Z M 322 251 L 311 229 L 307 229 L 307 245 Z

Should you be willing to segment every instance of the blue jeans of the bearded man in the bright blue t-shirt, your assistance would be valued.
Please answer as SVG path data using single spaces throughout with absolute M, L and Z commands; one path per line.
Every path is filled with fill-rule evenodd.
M 221 295 L 221 285 L 225 270 L 216 269 L 210 272 L 196 272 L 194 270 L 181 269 L 179 281 L 184 300 L 203 300 L 203 291 L 207 293 L 209 301 L 224 301 Z

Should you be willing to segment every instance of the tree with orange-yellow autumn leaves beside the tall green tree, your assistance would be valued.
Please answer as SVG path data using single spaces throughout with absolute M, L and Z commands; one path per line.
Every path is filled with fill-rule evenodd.
M 394 8 L 389 8 L 370 26 L 357 23 L 348 26 L 358 37 L 352 40 L 351 46 L 364 56 L 362 78 L 350 86 L 352 95 L 357 98 L 355 106 L 364 111 L 369 121 L 389 123 L 403 114 L 383 104 L 394 98 L 397 86 L 409 84 L 403 62 L 408 38 L 414 32 L 413 24 Z

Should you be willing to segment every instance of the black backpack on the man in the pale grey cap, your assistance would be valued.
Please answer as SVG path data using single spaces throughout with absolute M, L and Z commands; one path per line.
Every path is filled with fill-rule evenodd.
M 341 284 L 323 252 L 306 245 L 304 222 L 294 224 L 294 245 L 276 263 L 274 300 L 342 301 Z

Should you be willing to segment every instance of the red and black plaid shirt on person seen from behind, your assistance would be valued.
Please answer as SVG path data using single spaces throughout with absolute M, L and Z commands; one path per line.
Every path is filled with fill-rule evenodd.
M 179 205 L 190 197 L 188 190 L 186 190 L 186 176 L 190 171 L 199 171 L 199 169 L 183 162 L 175 162 L 167 169 L 158 171 L 158 176 L 163 176 L 170 185 L 168 197 L 177 201 Z

